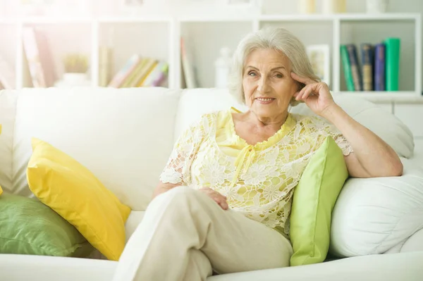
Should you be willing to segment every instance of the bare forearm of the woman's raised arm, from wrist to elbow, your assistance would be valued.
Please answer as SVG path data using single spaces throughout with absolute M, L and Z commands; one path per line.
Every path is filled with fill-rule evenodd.
M 323 117 L 341 131 L 369 176 L 397 176 L 403 173 L 403 164 L 391 146 L 351 118 L 340 106 L 334 104 L 324 112 Z

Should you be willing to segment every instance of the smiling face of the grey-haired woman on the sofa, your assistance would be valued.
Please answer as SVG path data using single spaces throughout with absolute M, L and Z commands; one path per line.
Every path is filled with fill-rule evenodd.
M 274 49 L 257 49 L 245 60 L 245 104 L 263 118 L 278 118 L 288 110 L 298 83 L 290 75 L 290 61 Z

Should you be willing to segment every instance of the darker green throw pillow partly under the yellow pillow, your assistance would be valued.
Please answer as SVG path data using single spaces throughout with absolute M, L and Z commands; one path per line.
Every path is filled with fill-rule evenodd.
M 0 254 L 87 257 L 94 248 L 37 199 L 0 196 Z

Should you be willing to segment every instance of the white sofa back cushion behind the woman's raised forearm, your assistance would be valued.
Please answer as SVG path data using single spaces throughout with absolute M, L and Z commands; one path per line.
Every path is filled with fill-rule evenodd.
M 378 135 L 401 157 L 411 157 L 414 151 L 414 139 L 410 129 L 395 115 L 380 106 L 359 97 L 333 95 L 333 99 L 358 123 Z M 314 115 L 305 105 L 300 104 L 291 110 L 293 113 Z

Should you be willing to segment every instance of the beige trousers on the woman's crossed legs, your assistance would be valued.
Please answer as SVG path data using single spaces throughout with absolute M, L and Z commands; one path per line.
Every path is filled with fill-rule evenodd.
M 289 266 L 283 235 L 203 192 L 175 187 L 157 196 L 130 237 L 115 281 L 200 281 L 216 273 Z

